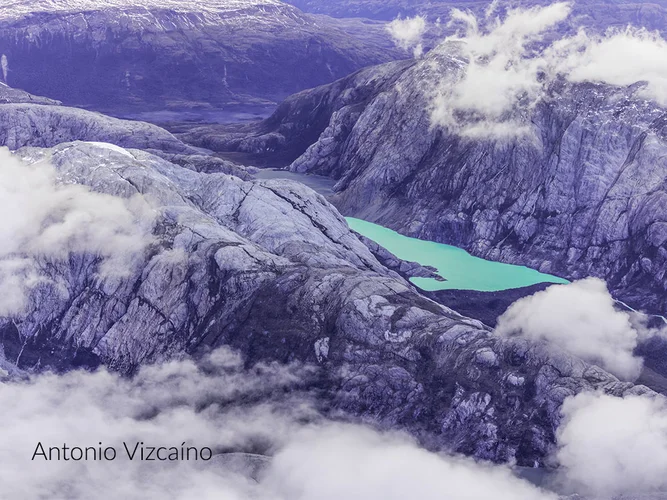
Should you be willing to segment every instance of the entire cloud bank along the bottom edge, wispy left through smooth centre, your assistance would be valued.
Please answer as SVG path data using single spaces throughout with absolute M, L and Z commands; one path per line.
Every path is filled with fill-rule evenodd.
M 304 366 L 259 365 L 226 349 L 200 363 L 0 383 L 0 484 L 37 500 L 555 500 L 507 467 L 427 452 L 404 436 L 324 420 L 303 387 Z M 205 462 L 31 461 L 43 446 L 211 447 L 275 457 L 259 482 Z

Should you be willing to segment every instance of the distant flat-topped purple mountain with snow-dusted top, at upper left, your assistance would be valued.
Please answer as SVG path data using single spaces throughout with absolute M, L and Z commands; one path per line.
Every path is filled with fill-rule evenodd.
M 14 87 L 108 110 L 275 101 L 399 57 L 381 23 L 277 0 L 20 0 L 0 6 Z

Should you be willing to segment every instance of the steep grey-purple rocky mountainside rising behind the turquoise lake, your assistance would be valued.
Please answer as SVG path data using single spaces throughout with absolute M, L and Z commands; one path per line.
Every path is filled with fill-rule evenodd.
M 345 215 L 571 279 L 603 277 L 626 302 L 664 314 L 665 110 L 641 85 L 557 83 L 528 119 L 536 141 L 462 139 L 431 127 L 421 85 L 434 71 L 456 74 L 448 54 L 303 92 L 293 113 L 211 146 L 301 150 L 285 131 L 325 109 L 327 127 L 290 168 L 339 179 L 332 200 Z M 365 81 L 380 83 L 357 86 Z

